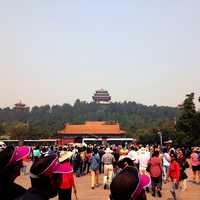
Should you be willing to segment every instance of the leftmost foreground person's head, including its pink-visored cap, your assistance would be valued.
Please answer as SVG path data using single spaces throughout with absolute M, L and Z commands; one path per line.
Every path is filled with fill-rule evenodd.
M 0 152 L 0 179 L 13 182 L 20 175 L 23 166 L 22 159 L 30 154 L 30 148 L 25 146 L 8 146 Z

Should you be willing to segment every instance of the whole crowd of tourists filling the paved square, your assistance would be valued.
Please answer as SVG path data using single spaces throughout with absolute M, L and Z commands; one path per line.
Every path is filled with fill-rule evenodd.
M 25 190 L 14 183 L 20 171 L 26 173 L 27 159 L 32 160 L 32 187 Z M 162 197 L 163 184 L 170 182 L 173 199 L 187 189 L 187 168 L 193 181 L 200 183 L 200 148 L 173 148 L 171 145 L 64 145 L 0 149 L 0 195 L 5 200 L 59 200 L 77 196 L 77 178 L 90 174 L 91 189 L 110 189 L 110 200 L 146 199 L 146 192 Z

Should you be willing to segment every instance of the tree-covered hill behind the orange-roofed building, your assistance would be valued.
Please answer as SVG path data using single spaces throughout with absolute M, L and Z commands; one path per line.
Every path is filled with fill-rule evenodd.
M 56 131 L 65 123 L 99 120 L 119 122 L 127 136 L 139 138 L 149 134 L 151 140 L 157 140 L 157 134 L 153 133 L 157 129 L 165 129 L 170 134 L 174 132 L 174 119 L 178 112 L 173 107 L 146 106 L 136 102 L 102 105 L 80 100 L 76 100 L 74 105 L 34 106 L 25 112 L 4 108 L 0 109 L 0 134 L 13 139 L 55 137 Z

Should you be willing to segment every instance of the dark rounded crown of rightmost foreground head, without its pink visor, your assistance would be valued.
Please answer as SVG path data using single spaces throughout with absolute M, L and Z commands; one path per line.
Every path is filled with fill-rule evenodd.
M 139 182 L 138 171 L 135 167 L 126 167 L 110 185 L 111 200 L 129 200 Z

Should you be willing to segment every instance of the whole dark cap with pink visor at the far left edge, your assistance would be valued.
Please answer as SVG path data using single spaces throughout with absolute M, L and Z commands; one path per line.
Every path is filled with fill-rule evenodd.
M 8 146 L 0 152 L 0 169 L 5 169 L 30 154 L 31 148 L 27 146 Z

